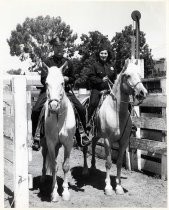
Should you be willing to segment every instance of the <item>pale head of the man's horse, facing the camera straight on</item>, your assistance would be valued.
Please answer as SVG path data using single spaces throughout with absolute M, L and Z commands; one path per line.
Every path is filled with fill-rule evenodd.
M 47 101 L 48 108 L 51 113 L 56 113 L 60 106 L 65 94 L 64 91 L 64 77 L 62 74 L 63 69 L 67 66 L 67 61 L 60 67 L 52 66 L 47 67 L 48 75 L 46 78 Z

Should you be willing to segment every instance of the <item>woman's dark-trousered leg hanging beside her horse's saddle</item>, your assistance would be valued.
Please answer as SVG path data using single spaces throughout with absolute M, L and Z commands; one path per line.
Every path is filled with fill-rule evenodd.
M 96 109 L 96 107 L 98 106 L 99 104 L 99 101 L 100 101 L 100 91 L 96 90 L 96 89 L 93 89 L 91 91 L 91 95 L 90 95 L 90 103 L 89 103 L 89 107 L 87 109 L 87 112 L 88 112 L 88 122 L 90 121 L 93 113 L 94 113 L 94 110 Z

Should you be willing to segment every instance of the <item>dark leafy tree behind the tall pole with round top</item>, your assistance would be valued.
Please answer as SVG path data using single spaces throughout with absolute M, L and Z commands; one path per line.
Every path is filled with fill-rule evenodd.
M 126 26 L 122 32 L 116 33 L 111 40 L 112 54 L 115 61 L 115 69 L 117 73 L 121 72 L 124 61 L 131 58 L 131 36 L 135 35 L 135 30 L 132 30 L 132 25 Z M 145 33 L 140 31 L 140 59 L 144 59 L 144 75 L 151 75 L 154 68 L 154 62 L 151 55 L 151 49 L 146 44 Z

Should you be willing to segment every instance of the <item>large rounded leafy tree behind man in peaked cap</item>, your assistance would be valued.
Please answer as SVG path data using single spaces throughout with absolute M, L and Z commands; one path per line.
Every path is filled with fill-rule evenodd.
M 30 58 L 34 64 L 38 64 L 40 59 L 44 60 L 51 54 L 49 41 L 55 36 L 66 39 L 67 56 L 73 56 L 77 34 L 73 34 L 73 30 L 61 17 L 26 18 L 22 25 L 17 24 L 16 30 L 11 32 L 11 37 L 7 40 L 10 54 L 18 56 L 21 61 Z

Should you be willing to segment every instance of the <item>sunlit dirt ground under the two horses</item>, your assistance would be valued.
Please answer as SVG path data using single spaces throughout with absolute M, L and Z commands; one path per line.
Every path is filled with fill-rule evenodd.
M 88 155 L 88 165 L 90 167 L 91 156 Z M 71 153 L 69 173 L 69 188 L 71 193 L 70 201 L 63 201 L 61 197 L 63 182 L 63 150 L 60 149 L 58 156 L 58 185 L 60 200 L 57 203 L 50 202 L 51 177 L 47 176 L 46 184 L 40 185 L 42 170 L 41 151 L 33 151 L 33 160 L 29 165 L 29 173 L 33 176 L 33 188 L 29 191 L 30 208 L 100 208 L 100 207 L 146 207 L 146 208 L 167 208 L 167 181 L 157 177 L 147 176 L 140 172 L 128 171 L 122 168 L 122 186 L 124 195 L 112 196 L 104 194 L 105 187 L 105 161 L 96 159 L 97 170 L 91 172 L 85 178 L 81 175 L 83 165 L 83 154 L 78 149 L 73 149 Z M 8 208 L 12 202 L 13 185 L 12 177 L 5 170 L 4 175 L 4 207 Z M 111 170 L 111 183 L 115 187 L 116 166 L 113 164 Z

